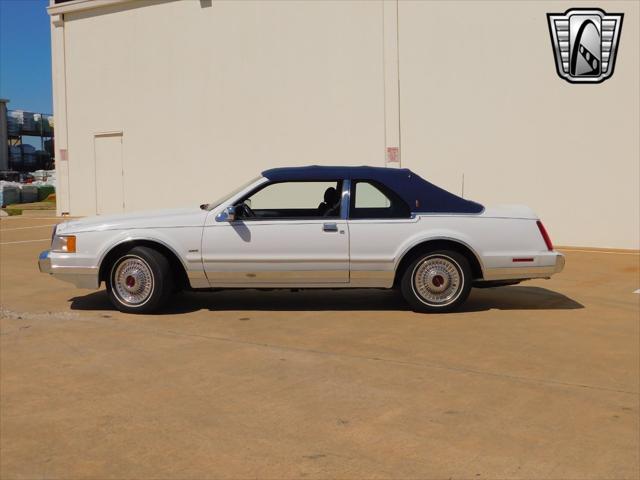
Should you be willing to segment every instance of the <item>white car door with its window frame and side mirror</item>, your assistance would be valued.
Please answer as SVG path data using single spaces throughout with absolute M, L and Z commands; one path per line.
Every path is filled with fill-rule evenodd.
M 237 202 L 234 220 L 212 213 L 202 238 L 209 284 L 286 287 L 348 283 L 349 230 L 342 183 L 266 183 Z

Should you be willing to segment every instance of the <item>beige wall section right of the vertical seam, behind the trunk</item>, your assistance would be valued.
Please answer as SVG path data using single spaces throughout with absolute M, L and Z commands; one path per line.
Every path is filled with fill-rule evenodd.
M 529 205 L 556 244 L 640 248 L 639 5 L 401 1 L 403 166 Z M 546 14 L 576 6 L 624 12 L 604 83 L 556 74 Z

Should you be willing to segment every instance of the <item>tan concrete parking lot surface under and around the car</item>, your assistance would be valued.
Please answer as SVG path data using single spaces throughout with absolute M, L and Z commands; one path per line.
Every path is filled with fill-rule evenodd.
M 186 293 L 162 315 L 38 272 L 0 220 L 0 477 L 636 479 L 637 254 L 424 315 L 382 290 Z

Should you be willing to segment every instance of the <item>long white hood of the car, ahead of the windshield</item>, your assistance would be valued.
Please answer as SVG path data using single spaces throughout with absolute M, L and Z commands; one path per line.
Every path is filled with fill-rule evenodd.
M 58 225 L 58 233 L 125 230 L 135 228 L 201 227 L 209 212 L 199 207 L 151 210 L 120 215 L 97 215 Z

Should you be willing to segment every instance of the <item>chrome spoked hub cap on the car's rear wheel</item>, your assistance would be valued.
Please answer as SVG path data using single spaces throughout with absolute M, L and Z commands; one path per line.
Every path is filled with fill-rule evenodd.
M 431 257 L 416 267 L 413 284 L 425 302 L 446 305 L 455 300 L 462 282 L 455 263 L 443 257 Z

